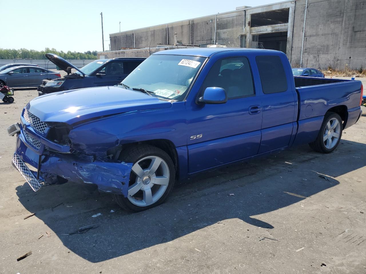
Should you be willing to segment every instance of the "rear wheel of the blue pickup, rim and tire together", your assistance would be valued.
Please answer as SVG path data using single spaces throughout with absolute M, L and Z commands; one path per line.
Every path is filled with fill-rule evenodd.
M 317 139 L 309 143 L 317 152 L 330 153 L 337 148 L 342 137 L 342 119 L 337 113 L 327 113 L 318 133 Z

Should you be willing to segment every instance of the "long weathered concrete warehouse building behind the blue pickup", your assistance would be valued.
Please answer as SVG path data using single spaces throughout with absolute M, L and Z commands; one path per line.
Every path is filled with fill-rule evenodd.
M 359 69 L 366 67 L 366 0 L 292 0 L 244 6 L 113 33 L 109 38 L 111 52 L 100 53 L 105 57 L 146 57 L 172 48 L 174 43 L 178 47 L 217 43 L 281 50 L 292 66 Z

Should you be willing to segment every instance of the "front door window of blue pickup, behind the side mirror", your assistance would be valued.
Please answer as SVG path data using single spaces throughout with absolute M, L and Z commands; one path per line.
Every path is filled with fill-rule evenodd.
M 253 77 L 246 57 L 231 57 L 218 60 L 210 69 L 201 86 L 203 94 L 208 87 L 220 87 L 228 99 L 253 96 Z

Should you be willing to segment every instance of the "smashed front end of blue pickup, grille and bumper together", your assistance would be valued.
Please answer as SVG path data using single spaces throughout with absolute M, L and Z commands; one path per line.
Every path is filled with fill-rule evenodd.
M 31 188 L 37 191 L 42 183 L 70 181 L 94 184 L 101 192 L 127 197 L 132 163 L 111 159 L 107 152 L 86 155 L 75 151 L 68 137 L 71 129 L 66 123 L 42 122 L 27 107 L 21 124 L 9 127 L 9 134 L 17 136 L 13 164 Z

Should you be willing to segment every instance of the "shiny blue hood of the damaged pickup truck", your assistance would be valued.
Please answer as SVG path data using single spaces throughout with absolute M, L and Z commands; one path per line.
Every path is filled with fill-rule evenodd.
M 139 91 L 110 86 L 43 95 L 31 100 L 27 108 L 41 121 L 72 125 L 106 115 L 168 108 L 171 104 Z

